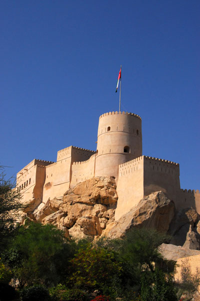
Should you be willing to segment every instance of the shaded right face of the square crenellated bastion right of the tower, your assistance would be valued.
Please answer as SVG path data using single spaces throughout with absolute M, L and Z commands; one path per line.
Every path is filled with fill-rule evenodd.
M 144 159 L 144 196 L 152 192 L 162 191 L 176 202 L 177 191 L 180 190 L 179 165 L 167 160 L 146 157 Z

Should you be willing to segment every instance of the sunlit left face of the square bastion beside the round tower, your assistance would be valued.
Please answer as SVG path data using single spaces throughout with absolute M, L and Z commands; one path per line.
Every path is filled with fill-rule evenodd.
M 143 157 L 119 166 L 116 192 L 115 220 L 118 220 L 143 198 Z

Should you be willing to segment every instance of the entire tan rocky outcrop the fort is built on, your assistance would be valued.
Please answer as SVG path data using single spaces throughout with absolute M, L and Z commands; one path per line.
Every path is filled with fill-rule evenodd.
M 20 222 L 28 217 L 42 224 L 50 223 L 63 230 L 66 237 L 118 238 L 132 227 L 144 227 L 171 236 L 170 245 L 165 246 L 168 253 L 184 257 L 194 255 L 191 249 L 200 250 L 200 216 L 192 208 L 175 211 L 174 203 L 161 191 L 141 199 L 115 221 L 117 194 L 113 177 L 91 178 L 70 188 L 60 198 L 48 199 L 46 203 L 31 199 L 25 205 Z

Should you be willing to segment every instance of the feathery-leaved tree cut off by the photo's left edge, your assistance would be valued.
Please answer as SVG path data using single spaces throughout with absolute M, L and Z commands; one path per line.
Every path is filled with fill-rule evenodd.
M 0 253 L 7 246 L 8 241 L 16 233 L 17 212 L 23 208 L 21 196 L 14 189 L 11 180 L 5 180 L 5 174 L 0 168 Z

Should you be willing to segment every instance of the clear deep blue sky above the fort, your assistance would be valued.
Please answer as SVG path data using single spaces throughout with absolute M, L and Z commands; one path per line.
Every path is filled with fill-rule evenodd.
M 199 0 L 1 0 L 0 165 L 14 176 L 74 145 L 96 150 L 98 117 L 142 118 L 143 155 L 199 181 Z

